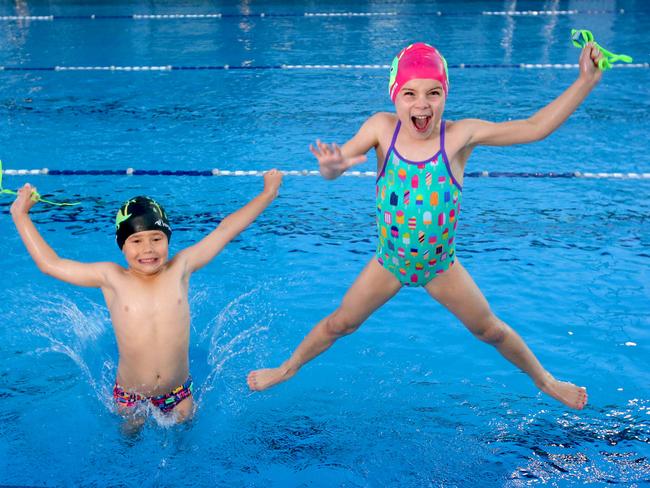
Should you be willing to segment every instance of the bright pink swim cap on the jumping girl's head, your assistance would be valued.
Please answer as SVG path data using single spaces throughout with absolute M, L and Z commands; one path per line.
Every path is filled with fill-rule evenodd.
M 442 83 L 445 97 L 449 92 L 447 61 L 435 47 L 424 42 L 416 42 L 405 47 L 393 59 L 388 82 L 390 99 L 394 102 L 404 83 L 415 78 L 438 80 Z

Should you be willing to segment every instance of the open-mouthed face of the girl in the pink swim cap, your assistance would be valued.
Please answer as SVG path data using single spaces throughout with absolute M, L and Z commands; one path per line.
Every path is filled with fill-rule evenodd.
M 397 117 L 415 139 L 429 139 L 437 134 L 444 110 L 445 92 L 438 80 L 409 80 L 395 97 Z

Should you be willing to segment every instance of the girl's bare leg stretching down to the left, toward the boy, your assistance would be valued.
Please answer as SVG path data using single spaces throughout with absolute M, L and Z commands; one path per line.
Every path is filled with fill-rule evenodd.
M 321 320 L 291 357 L 277 368 L 258 369 L 248 374 L 251 390 L 265 390 L 295 375 L 307 362 L 327 350 L 344 335 L 351 334 L 401 288 L 392 273 L 372 259 L 343 297 L 338 309 Z

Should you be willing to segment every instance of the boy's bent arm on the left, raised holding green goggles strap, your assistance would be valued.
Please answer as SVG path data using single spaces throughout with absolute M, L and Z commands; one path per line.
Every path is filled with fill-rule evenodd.
M 11 205 L 11 217 L 27 251 L 43 273 L 78 286 L 99 288 L 105 283 L 108 263 L 80 263 L 61 259 L 49 246 L 32 222 L 30 209 L 36 203 L 32 194 L 36 188 L 28 183 L 18 190 L 18 196 Z

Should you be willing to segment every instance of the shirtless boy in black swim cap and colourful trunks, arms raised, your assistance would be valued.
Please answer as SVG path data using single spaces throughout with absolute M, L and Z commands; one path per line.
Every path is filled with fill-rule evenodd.
M 127 268 L 60 258 L 34 226 L 29 210 L 36 189 L 25 184 L 11 206 L 16 229 L 38 268 L 78 286 L 101 288 L 109 309 L 119 362 L 113 389 L 118 412 L 141 424 L 141 405 L 151 404 L 178 422 L 193 412 L 189 372 L 191 274 L 208 264 L 275 199 L 282 174 L 264 174 L 264 190 L 225 217 L 201 241 L 168 258 L 172 229 L 153 199 L 135 197 L 120 208 L 115 238 Z

